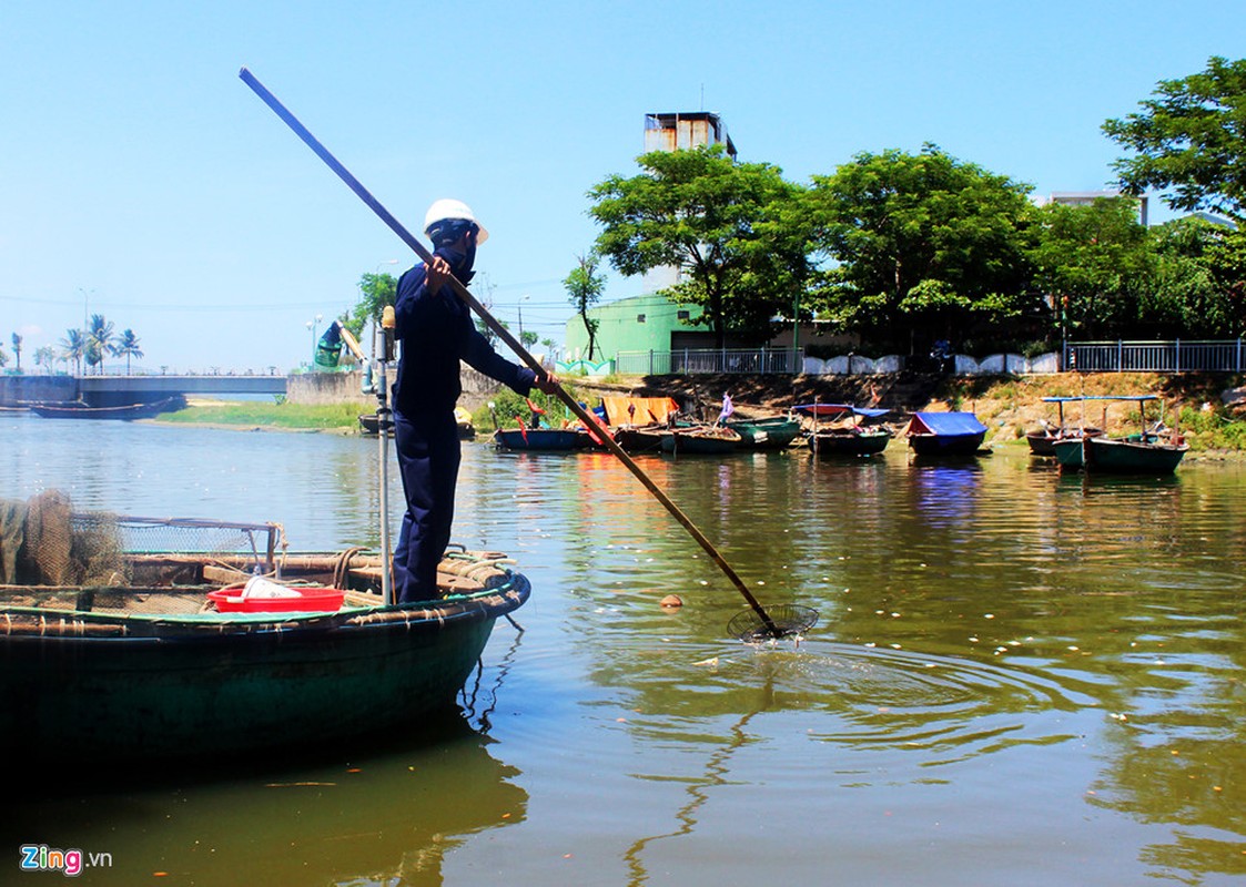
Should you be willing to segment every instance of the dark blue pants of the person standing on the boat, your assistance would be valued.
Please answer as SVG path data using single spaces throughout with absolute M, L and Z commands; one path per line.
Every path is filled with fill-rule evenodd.
M 437 597 L 437 564 L 455 518 L 459 424 L 452 411 L 404 416 L 395 410 L 394 442 L 406 496 L 394 548 L 394 597 L 405 604 Z

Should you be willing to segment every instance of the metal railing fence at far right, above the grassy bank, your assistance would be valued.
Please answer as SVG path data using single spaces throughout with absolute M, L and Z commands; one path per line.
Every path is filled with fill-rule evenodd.
M 1070 372 L 1241 372 L 1242 340 L 1070 341 L 1063 369 Z

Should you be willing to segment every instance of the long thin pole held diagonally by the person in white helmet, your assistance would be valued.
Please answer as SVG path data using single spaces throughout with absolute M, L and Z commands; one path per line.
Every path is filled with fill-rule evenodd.
M 346 167 L 339 163 L 338 159 L 331 153 L 329 153 L 328 148 L 325 148 L 316 140 L 316 137 L 313 136 L 308 131 L 308 128 L 303 126 L 303 123 L 300 123 L 299 120 L 293 113 L 290 113 L 284 105 L 282 105 L 282 102 L 277 98 L 277 96 L 269 92 L 268 88 L 263 83 L 260 83 L 255 78 L 255 76 L 245 67 L 238 72 L 238 76 L 242 78 L 244 83 L 247 83 L 247 86 L 249 86 L 255 92 L 257 96 L 260 97 L 260 100 L 263 100 L 265 105 L 268 105 L 269 108 L 273 110 L 273 112 L 278 117 L 280 117 L 285 122 L 287 126 L 290 127 L 290 130 L 294 131 L 294 133 L 299 138 L 302 138 L 307 143 L 309 148 L 312 148 L 312 151 L 321 161 L 324 161 L 324 163 L 330 169 L 333 169 L 338 174 L 338 178 L 340 178 L 343 182 L 346 183 L 346 187 L 349 187 L 351 191 L 355 192 L 359 199 L 366 203 L 368 207 L 374 213 L 376 213 L 376 216 L 379 216 L 380 219 L 386 225 L 389 225 L 390 230 L 392 230 L 395 234 L 399 235 L 402 243 L 410 247 L 411 250 L 415 252 L 415 254 L 419 255 L 425 264 L 432 263 L 432 253 L 430 253 L 429 249 L 422 243 L 420 243 L 420 240 L 416 239 L 411 234 L 411 232 L 409 232 L 402 225 L 401 222 L 394 218 L 394 216 L 385 207 L 381 206 L 380 201 L 373 197 L 371 193 L 369 193 L 369 191 L 359 182 L 359 179 L 350 174 L 350 171 L 346 169 Z M 537 361 L 537 359 L 533 358 L 526 348 L 523 348 L 523 345 L 518 341 L 518 339 L 511 335 L 511 331 L 508 329 L 502 326 L 502 324 L 500 324 L 497 319 L 493 318 L 493 315 L 490 314 L 488 310 L 482 304 L 480 304 L 480 301 L 476 300 L 476 296 L 473 296 L 467 290 L 466 287 L 464 287 L 457 279 L 455 279 L 454 275 L 449 278 L 447 283 L 450 288 L 454 290 L 455 295 L 462 299 L 468 308 L 476 311 L 476 314 L 481 318 L 481 320 L 485 321 L 485 324 L 490 328 L 490 330 L 492 330 L 498 339 L 505 341 L 507 346 L 512 351 L 515 351 L 515 354 L 520 358 L 520 360 L 522 360 L 528 366 L 528 369 L 536 372 L 538 377 L 545 377 L 548 375 L 545 368 Z M 579 402 L 574 397 L 572 397 L 564 387 L 562 387 L 562 385 L 558 385 L 554 389 L 554 394 L 558 397 L 558 400 L 566 404 L 567 409 L 571 410 L 572 414 L 574 414 L 574 416 L 581 422 L 583 422 L 584 427 L 589 429 L 597 427 L 593 420 L 588 416 L 588 411 L 584 410 L 584 407 L 582 407 Z M 653 497 L 658 500 L 658 502 L 660 502 L 663 507 L 665 507 L 668 512 L 670 512 L 670 516 L 674 517 L 680 523 L 680 526 L 683 526 L 683 528 L 688 531 L 689 536 L 692 536 L 693 539 L 697 541 L 697 544 L 699 544 L 705 551 L 705 553 L 709 554 L 710 559 L 713 559 L 714 563 L 718 564 L 718 568 L 723 571 L 723 574 L 726 576 L 728 579 L 730 579 L 731 584 L 735 586 L 736 591 L 749 603 L 749 607 L 751 607 L 754 613 L 758 614 L 758 618 L 761 619 L 763 624 L 766 627 L 766 630 L 771 634 L 771 637 L 775 638 L 780 637 L 781 632 L 779 630 L 779 627 L 775 625 L 774 620 L 770 618 L 770 614 L 766 613 L 766 610 L 761 607 L 758 599 L 753 595 L 753 592 L 749 591 L 749 587 L 744 584 L 744 579 L 741 579 L 740 576 L 731 568 L 731 564 L 729 564 L 726 559 L 721 554 L 719 554 L 714 544 L 705 537 L 705 534 L 700 529 L 697 528 L 697 524 L 692 522 L 692 518 L 689 518 L 679 508 L 679 506 L 677 506 L 670 500 L 670 497 L 667 496 L 658 487 L 658 485 L 653 482 L 653 480 L 640 468 L 640 466 L 637 465 L 635 461 L 623 451 L 623 448 L 618 445 L 617 441 L 614 441 L 609 435 L 604 434 L 601 435 L 601 439 L 602 442 L 606 445 L 606 448 L 609 450 L 612 453 L 614 453 L 614 456 L 617 456 L 618 460 L 623 462 L 624 466 L 627 466 L 628 471 L 630 471 L 635 476 L 635 478 L 640 481 L 644 488 L 648 490 L 653 495 Z

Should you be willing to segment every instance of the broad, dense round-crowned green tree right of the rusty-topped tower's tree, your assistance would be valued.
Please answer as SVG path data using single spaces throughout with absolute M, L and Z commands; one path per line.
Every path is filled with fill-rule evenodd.
M 829 259 L 819 306 L 885 348 L 963 340 L 973 321 L 1037 310 L 1027 296 L 1027 184 L 926 145 L 861 153 L 815 176 L 807 214 Z

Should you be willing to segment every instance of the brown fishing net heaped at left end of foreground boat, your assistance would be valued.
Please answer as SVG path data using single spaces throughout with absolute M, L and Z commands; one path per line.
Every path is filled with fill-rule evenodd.
M 22 502 L 0 500 L 0 584 L 125 586 L 122 537 L 106 513 L 75 515 L 49 490 Z

